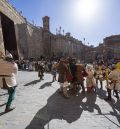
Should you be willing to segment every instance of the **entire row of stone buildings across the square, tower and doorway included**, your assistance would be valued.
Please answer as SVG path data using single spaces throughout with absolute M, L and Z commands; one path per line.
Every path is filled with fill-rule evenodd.
M 0 50 L 11 52 L 15 59 L 74 56 L 85 62 L 120 59 L 120 35 L 106 37 L 97 47 L 87 46 L 71 36 L 53 34 L 50 18 L 43 17 L 43 27 L 29 23 L 6 0 L 0 0 Z

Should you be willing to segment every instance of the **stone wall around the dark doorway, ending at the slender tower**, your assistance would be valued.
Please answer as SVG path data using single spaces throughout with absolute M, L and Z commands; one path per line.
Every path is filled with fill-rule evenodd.
M 27 22 L 6 0 L 0 1 L 0 12 L 14 22 L 19 59 L 39 57 L 43 54 L 42 29 Z M 0 20 L 1 23 L 1 20 Z M 0 48 L 4 49 L 0 24 Z

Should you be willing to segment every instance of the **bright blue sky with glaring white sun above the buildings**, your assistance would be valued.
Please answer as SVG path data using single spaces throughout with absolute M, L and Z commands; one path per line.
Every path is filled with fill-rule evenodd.
M 62 27 L 65 33 L 97 46 L 103 38 L 120 34 L 120 0 L 9 0 L 29 22 L 42 26 L 50 17 L 50 30 Z

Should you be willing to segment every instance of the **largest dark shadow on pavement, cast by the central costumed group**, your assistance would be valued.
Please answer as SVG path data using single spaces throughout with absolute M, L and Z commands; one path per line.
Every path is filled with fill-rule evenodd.
M 84 98 L 87 99 L 86 102 L 82 102 Z M 95 101 L 96 94 L 79 94 L 79 96 L 65 99 L 56 91 L 48 98 L 47 104 L 36 113 L 26 129 L 45 129 L 44 126 L 49 126 L 49 122 L 53 119 L 63 119 L 72 123 L 81 117 L 83 111 L 93 112 L 94 108 L 101 113 Z

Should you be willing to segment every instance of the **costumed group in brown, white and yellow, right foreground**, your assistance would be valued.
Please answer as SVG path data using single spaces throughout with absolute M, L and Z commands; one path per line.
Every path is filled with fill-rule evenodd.
M 82 93 L 97 92 L 98 82 L 100 89 L 103 89 L 103 82 L 108 92 L 106 101 L 111 101 L 111 91 L 113 90 L 117 99 L 120 91 L 120 62 L 108 65 L 103 61 L 94 64 L 81 64 L 75 59 L 61 59 L 56 66 L 58 71 L 58 82 L 60 82 L 60 92 L 69 98 L 68 90 L 72 89 L 73 94 L 77 94 L 82 88 Z M 86 89 L 85 89 L 86 88 Z

